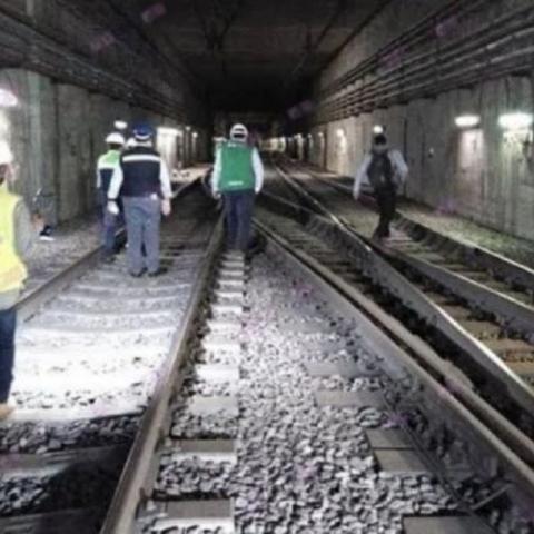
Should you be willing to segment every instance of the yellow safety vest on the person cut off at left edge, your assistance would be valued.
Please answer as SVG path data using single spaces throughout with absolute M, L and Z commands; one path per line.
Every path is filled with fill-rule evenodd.
M 20 289 L 28 276 L 14 246 L 14 210 L 20 200 L 0 187 L 0 293 Z

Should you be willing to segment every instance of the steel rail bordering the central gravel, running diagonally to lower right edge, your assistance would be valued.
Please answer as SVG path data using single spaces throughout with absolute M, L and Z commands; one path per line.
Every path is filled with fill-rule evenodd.
M 335 303 L 336 309 L 344 317 L 354 318 L 360 325 L 365 330 L 362 343 L 373 353 L 389 356 L 380 365 L 392 380 L 405 378 L 406 372 L 415 376 L 427 389 L 425 398 L 434 406 L 434 413 L 445 416 L 453 427 L 459 425 L 465 436 L 476 436 L 481 451 L 490 449 L 510 469 L 511 479 L 521 487 L 521 493 L 531 500 L 534 497 L 534 471 L 531 466 L 534 443 L 528 437 L 467 387 L 428 345 L 387 315 L 376 303 L 306 251 L 297 249 L 271 227 L 257 219 L 255 225 L 270 246 L 283 253 L 294 268 L 314 279 L 327 300 Z M 510 442 L 502 438 L 503 435 L 507 439 L 514 436 L 514 445 L 520 446 L 521 454 L 511 448 Z

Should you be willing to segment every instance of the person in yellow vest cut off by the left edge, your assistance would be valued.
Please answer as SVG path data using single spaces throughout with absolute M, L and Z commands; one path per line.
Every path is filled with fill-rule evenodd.
M 24 201 L 9 190 L 17 179 L 13 155 L 0 141 L 0 419 L 12 412 L 8 404 L 14 363 L 16 304 L 27 278 L 24 256 L 43 228 L 33 221 Z

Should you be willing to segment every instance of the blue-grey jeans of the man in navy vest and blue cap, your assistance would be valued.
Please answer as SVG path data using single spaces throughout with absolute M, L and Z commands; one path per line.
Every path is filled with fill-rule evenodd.
M 123 197 L 122 201 L 128 235 L 128 269 L 132 275 L 140 274 L 145 267 L 149 273 L 157 273 L 161 201 L 150 197 Z M 144 247 L 146 258 L 142 256 Z

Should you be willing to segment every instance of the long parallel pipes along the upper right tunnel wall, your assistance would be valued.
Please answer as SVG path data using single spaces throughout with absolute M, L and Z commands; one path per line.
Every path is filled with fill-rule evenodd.
M 495 21 L 495 26 L 471 33 L 449 44 L 400 61 L 376 72 L 359 87 L 345 86 L 343 95 L 319 103 L 318 122 L 390 106 L 398 101 L 437 95 L 446 89 L 473 85 L 525 69 L 534 57 L 534 13 L 522 8 Z

